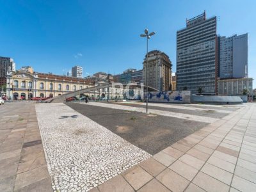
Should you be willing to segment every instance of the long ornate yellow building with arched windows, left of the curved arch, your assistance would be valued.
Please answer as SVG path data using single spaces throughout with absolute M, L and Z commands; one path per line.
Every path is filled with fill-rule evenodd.
M 94 81 L 78 77 L 37 73 L 31 67 L 7 72 L 6 95 L 13 100 L 56 97 L 67 92 L 95 86 Z

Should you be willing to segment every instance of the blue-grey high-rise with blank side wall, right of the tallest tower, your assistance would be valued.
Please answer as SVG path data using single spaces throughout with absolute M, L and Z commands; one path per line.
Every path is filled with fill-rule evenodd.
M 248 34 L 219 38 L 220 78 L 248 77 Z

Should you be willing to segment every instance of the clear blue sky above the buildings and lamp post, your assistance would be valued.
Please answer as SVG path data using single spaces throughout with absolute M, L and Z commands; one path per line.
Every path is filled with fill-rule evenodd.
M 256 1 L 6 1 L 0 0 L 0 56 L 38 72 L 84 76 L 142 68 L 144 28 L 156 31 L 149 50 L 166 52 L 176 70 L 176 32 L 206 10 L 217 16 L 218 34 L 249 34 L 249 76 L 256 79 Z M 256 87 L 256 81 L 253 82 Z

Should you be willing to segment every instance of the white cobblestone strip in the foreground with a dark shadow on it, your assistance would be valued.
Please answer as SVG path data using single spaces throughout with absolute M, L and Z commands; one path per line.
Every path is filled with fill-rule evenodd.
M 54 191 L 88 191 L 150 154 L 65 104 L 36 104 Z

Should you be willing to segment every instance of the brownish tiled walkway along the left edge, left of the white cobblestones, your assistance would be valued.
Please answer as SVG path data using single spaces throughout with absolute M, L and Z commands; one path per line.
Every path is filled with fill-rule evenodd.
M 0 106 L 0 191 L 52 191 L 32 102 Z

